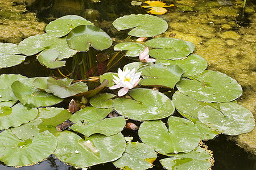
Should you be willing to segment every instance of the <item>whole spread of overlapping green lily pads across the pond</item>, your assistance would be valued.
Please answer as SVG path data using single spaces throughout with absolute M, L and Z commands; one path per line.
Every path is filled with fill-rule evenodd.
M 135 37 L 154 37 L 168 27 L 163 19 L 141 14 L 122 16 L 113 25 L 118 30 L 133 28 L 128 34 Z M 0 43 L 0 67 L 18 65 L 38 54 L 42 65 L 56 69 L 65 66 L 63 59 L 90 46 L 105 50 L 112 39 L 88 20 L 67 15 L 50 22 L 43 35 L 28 37 L 19 45 Z M 24 166 L 54 154 L 80 168 L 112 162 L 121 169 L 148 169 L 159 153 L 168 156 L 160 160 L 166 169 L 208 169 L 211 155 L 199 146 L 200 141 L 220 133 L 247 133 L 255 121 L 236 103 L 242 95 L 240 84 L 206 70 L 207 62 L 192 54 L 194 49 L 192 42 L 167 37 L 119 43 L 114 50 L 143 58 L 125 65 L 125 71 L 101 75 L 101 85 L 95 89 L 69 78 L 0 75 L 1 162 Z M 154 61 L 147 55 L 156 61 L 147 62 Z M 115 89 L 120 87 L 125 89 L 117 96 Z M 86 107 L 75 113 L 55 107 L 72 97 L 83 99 Z M 117 114 L 109 116 L 113 113 Z M 168 118 L 167 124 L 163 118 Z M 56 129 L 67 120 L 72 122 L 67 130 Z M 141 123 L 141 141 L 123 136 L 130 120 Z

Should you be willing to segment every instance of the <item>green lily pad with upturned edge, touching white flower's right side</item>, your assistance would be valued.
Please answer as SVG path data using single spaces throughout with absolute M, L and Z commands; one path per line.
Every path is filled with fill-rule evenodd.
M 144 66 L 138 71 L 142 71 L 143 79 L 139 84 L 143 86 L 174 88 L 179 82 L 184 71 L 176 65 L 164 66 L 161 64 Z

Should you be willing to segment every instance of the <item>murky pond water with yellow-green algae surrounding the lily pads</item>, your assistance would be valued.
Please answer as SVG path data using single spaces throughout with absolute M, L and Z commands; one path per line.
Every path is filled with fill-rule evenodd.
M 44 23 L 49 23 L 51 20 L 64 15 L 80 15 L 103 29 L 110 37 L 115 37 L 116 40 L 113 43 L 115 45 L 126 38 L 127 32 L 117 31 L 112 25 L 113 20 L 123 15 L 147 13 L 145 8 L 132 6 L 130 2 L 126 0 L 13 1 L 13 9 L 20 10 L 20 8 L 26 7 L 27 10 L 19 11 L 16 14 L 15 10 L 13 10 L 11 17 L 0 13 L 1 18 L 17 20 L 15 23 L 9 22 L 9 25 L 7 24 L 9 31 L 1 31 L 2 35 L 3 33 L 5 35 L 9 34 L 9 37 L 2 36 L 0 42 L 18 44 L 19 41 L 28 36 L 42 33 L 46 25 Z M 163 35 L 158 37 L 174 37 L 193 42 L 195 44 L 195 53 L 207 60 L 208 70 L 221 71 L 241 84 L 243 95 L 238 99 L 238 103 L 249 109 L 255 117 L 255 1 L 247 1 L 245 9 L 242 8 L 242 1 L 181 0 L 164 2 L 167 5 L 174 3 L 175 7 L 168 7 L 167 14 L 159 15 L 160 18 L 168 22 L 169 28 Z M 23 17 L 19 15 L 23 15 Z M 31 20 L 31 22 L 24 23 L 24 20 Z M 24 24 L 28 24 L 29 27 L 26 28 Z M 10 35 L 12 28 L 18 27 L 16 25 L 20 25 L 21 31 L 13 29 L 13 35 Z M 22 31 L 22 28 L 27 29 L 27 31 Z M 20 34 L 20 32 L 25 33 Z M 129 62 L 127 59 L 123 59 L 119 65 L 113 67 L 113 70 L 117 70 L 118 67 L 122 67 L 127 62 Z M 67 60 L 67 66 L 72 66 L 72 58 Z M 35 72 L 35 68 L 38 71 Z M 57 71 L 50 71 L 40 65 L 35 57 L 27 57 L 26 61 L 21 65 L 1 69 L 0 73 L 22 74 L 28 77 L 49 76 L 51 74 L 59 75 Z M 64 105 L 67 108 L 67 104 Z M 123 134 L 126 133 L 127 131 L 123 131 Z M 134 138 L 138 138 L 136 132 L 133 135 Z M 208 150 L 213 151 L 215 162 L 212 169 L 255 169 L 255 141 L 255 129 L 251 133 L 238 137 L 231 138 L 226 135 L 219 135 L 215 139 L 204 141 L 208 146 Z M 161 155 L 159 157 L 161 158 Z M 157 160 L 152 169 L 163 169 Z M 15 168 L 7 167 L 4 163 L 0 162 L 0 169 L 9 170 Z M 60 162 L 52 155 L 47 160 L 32 167 L 16 169 L 76 168 Z M 115 167 L 112 163 L 107 163 L 104 165 L 94 165 L 90 169 L 115 169 Z

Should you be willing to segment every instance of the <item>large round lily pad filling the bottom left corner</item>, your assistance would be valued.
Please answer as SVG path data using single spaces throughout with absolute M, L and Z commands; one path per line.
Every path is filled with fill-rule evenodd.
M 20 141 L 10 130 L 0 133 L 0 160 L 8 166 L 25 166 L 43 161 L 55 151 L 56 138 L 44 131 Z

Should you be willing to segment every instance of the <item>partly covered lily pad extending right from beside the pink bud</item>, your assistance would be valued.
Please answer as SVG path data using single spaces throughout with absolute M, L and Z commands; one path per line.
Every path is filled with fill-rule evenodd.
M 196 75 L 207 69 L 207 61 L 205 61 L 203 57 L 195 54 L 189 55 L 188 58 L 178 60 L 157 59 L 156 63 L 162 63 L 162 65 L 177 65 L 185 71 L 185 74 L 182 76 Z

